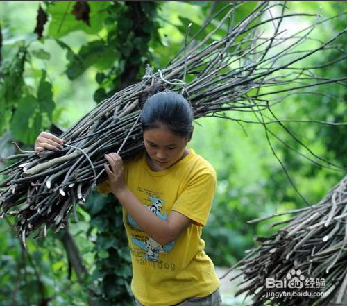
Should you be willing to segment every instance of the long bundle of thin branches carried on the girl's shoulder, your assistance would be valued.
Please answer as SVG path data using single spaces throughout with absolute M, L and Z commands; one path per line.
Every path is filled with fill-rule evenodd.
M 229 118 L 225 113 L 229 110 L 262 113 L 280 103 L 285 98 L 281 94 L 289 96 L 295 90 L 325 83 L 345 85 L 346 78 L 316 76 L 316 67 L 305 68 L 303 60 L 314 53 L 337 49 L 332 43 L 346 29 L 326 42 L 314 40 L 310 33 L 329 19 L 287 14 L 285 3 L 259 3 L 244 19 L 235 22 L 242 5 L 235 2 L 223 6 L 192 37 L 189 25 L 183 49 L 165 69 L 155 73 L 148 69 L 141 82 L 97 105 L 60 135 L 66 140 L 61 151 L 20 151 L 3 159 L 17 162 L 1 171 L 7 178 L 0 185 L 0 215 L 17 216 L 15 230 L 22 235 L 24 245 L 29 234 L 36 231 L 40 237 L 47 226 L 59 230 L 70 214 L 76 216 L 76 205 L 83 205 L 89 192 L 106 178 L 105 153 L 117 151 L 122 158 L 129 158 L 142 150 L 139 96 L 154 81 L 184 94 L 192 103 L 195 119 Z M 296 33 L 287 34 L 282 29 L 286 20 L 301 16 L 312 17 L 314 22 Z M 219 22 L 211 29 L 216 19 Z M 198 41 L 203 33 L 206 36 Z M 313 42 L 315 47 L 307 49 L 305 42 Z M 278 95 L 270 100 L 273 94 Z

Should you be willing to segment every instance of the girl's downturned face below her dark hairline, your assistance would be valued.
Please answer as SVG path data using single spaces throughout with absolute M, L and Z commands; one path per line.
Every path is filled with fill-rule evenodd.
M 160 169 L 166 169 L 178 162 L 189 142 L 189 138 L 172 133 L 166 126 L 144 131 L 144 147 L 151 160 Z

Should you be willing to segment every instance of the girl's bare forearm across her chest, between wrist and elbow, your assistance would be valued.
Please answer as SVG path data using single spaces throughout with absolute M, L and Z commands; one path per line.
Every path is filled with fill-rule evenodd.
M 174 240 L 175 237 L 171 237 L 169 230 L 169 222 L 160 219 L 148 210 L 128 188 L 121 189 L 117 193 L 113 192 L 113 194 L 137 225 L 158 244 L 164 246 Z

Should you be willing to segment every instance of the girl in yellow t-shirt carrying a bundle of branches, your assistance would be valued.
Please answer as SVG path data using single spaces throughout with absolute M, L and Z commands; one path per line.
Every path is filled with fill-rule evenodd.
M 205 254 L 201 229 L 216 187 L 212 165 L 187 144 L 193 112 L 175 92 L 158 92 L 144 103 L 140 117 L 145 151 L 123 162 L 105 155 L 112 192 L 123 209 L 138 306 L 219 306 L 219 279 Z M 62 148 L 49 133 L 37 137 L 35 150 Z

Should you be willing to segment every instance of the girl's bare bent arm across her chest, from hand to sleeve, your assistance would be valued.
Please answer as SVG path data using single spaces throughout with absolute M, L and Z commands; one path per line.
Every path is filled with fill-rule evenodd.
M 130 192 L 125 184 L 123 161 L 117 153 L 105 155 L 110 167 L 105 165 L 105 171 L 108 173 L 112 194 L 114 194 L 121 205 L 126 209 L 128 214 L 133 217 L 137 225 L 146 232 L 149 237 L 164 246 L 176 239 L 183 230 L 185 230 L 192 221 L 180 214 L 179 212 L 171 211 L 166 220 L 155 216 L 153 212 L 146 209 L 135 197 L 133 192 Z

